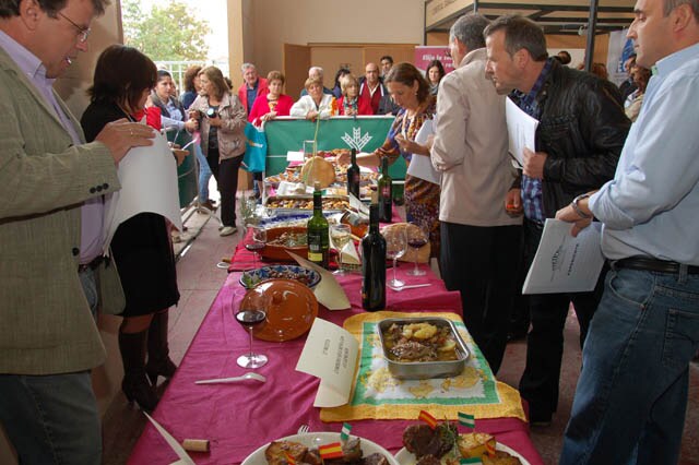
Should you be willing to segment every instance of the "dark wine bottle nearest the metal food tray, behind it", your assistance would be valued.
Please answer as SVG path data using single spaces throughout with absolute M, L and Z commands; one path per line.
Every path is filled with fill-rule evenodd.
M 386 239 L 379 233 L 379 206 L 369 207 L 369 233 L 362 239 L 362 307 L 386 308 Z

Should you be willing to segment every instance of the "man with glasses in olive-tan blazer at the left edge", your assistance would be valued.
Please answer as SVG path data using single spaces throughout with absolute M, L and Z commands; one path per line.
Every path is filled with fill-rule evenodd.
M 0 0 L 0 421 L 23 464 L 102 461 L 90 370 L 105 349 L 91 306 L 100 287 L 118 313 L 123 294 L 102 259 L 98 200 L 154 133 L 116 121 L 84 144 L 51 85 L 106 3 Z

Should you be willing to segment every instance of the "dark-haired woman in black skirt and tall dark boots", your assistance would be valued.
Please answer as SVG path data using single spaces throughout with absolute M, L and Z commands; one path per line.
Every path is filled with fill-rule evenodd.
M 93 141 L 111 121 L 135 121 L 156 82 L 157 70 L 145 55 L 122 45 L 107 47 L 97 59 L 90 106 L 81 119 L 85 139 Z M 119 327 L 121 390 L 129 402 L 152 410 L 157 396 L 146 373 L 155 384 L 158 375 L 171 378 L 177 369 L 167 344 L 168 309 L 178 302 L 179 290 L 166 220 L 140 213 L 119 225 L 110 246 L 126 296 Z

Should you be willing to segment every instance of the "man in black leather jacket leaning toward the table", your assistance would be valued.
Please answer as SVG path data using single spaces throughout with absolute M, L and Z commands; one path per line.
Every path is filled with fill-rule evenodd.
M 509 93 L 520 108 L 540 121 L 536 152 L 524 151 L 522 176 L 506 199 L 511 212 L 524 213 L 529 267 L 545 219 L 614 177 L 630 121 L 614 84 L 547 58 L 544 33 L 532 21 L 501 16 L 485 35 L 486 73 L 496 90 Z M 603 277 L 604 273 L 592 293 L 530 296 L 532 327 L 520 392 L 530 404 L 533 425 L 550 424 L 557 408 L 562 331 L 570 302 L 580 323 L 582 345 Z

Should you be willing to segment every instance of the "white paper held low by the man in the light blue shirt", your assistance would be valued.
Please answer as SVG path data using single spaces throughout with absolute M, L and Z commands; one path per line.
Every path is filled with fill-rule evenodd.
M 572 225 L 547 218 L 522 294 L 583 293 L 594 289 L 604 264 L 601 224 L 592 223 L 578 237 Z

